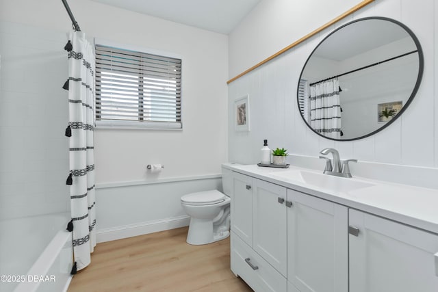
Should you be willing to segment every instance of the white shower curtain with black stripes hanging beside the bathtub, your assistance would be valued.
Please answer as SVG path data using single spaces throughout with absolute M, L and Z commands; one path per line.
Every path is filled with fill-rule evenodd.
M 81 31 L 70 32 L 68 111 L 70 140 L 70 206 L 77 270 L 91 261 L 96 245 L 94 225 L 94 53 Z

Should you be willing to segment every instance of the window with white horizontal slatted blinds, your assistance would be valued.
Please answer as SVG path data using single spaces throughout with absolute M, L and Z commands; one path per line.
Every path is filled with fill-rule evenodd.
M 181 129 L 181 58 L 95 49 L 97 127 Z

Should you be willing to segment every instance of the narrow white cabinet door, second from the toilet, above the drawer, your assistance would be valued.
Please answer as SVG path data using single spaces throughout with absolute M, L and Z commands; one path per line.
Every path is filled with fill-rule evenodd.
M 253 249 L 286 276 L 286 188 L 258 179 L 253 188 Z

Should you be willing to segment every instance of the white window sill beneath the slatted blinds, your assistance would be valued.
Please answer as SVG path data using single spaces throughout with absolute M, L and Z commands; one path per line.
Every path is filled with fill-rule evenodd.
M 96 120 L 94 129 L 114 130 L 179 130 L 182 131 L 181 122 L 136 122 L 118 120 Z

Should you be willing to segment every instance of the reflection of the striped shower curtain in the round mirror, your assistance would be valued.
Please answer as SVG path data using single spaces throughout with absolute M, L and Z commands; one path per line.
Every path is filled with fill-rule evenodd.
M 337 78 L 310 86 L 311 127 L 326 137 L 341 137 L 341 105 Z

